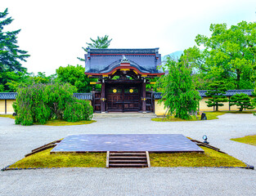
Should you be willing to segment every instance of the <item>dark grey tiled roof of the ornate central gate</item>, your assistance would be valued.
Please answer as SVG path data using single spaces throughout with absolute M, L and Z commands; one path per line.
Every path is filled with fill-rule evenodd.
M 90 49 L 85 55 L 85 73 L 108 73 L 121 63 L 123 56 L 142 73 L 162 73 L 159 48 L 147 49 Z

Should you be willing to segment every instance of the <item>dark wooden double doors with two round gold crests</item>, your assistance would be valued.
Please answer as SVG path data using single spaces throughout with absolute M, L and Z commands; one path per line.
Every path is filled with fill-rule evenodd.
M 112 85 L 107 88 L 106 94 L 107 110 L 110 112 L 128 112 L 140 109 L 138 85 Z

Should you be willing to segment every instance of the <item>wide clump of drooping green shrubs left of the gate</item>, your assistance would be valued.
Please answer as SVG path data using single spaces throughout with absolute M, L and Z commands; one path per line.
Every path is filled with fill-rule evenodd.
M 92 106 L 83 100 L 73 97 L 75 87 L 69 83 L 34 84 L 20 87 L 16 103 L 13 105 L 16 113 L 16 124 L 32 125 L 34 122 L 45 124 L 50 119 L 62 119 L 69 115 L 69 120 L 78 121 L 77 111 L 67 110 L 70 105 L 82 105 L 79 116 L 82 119 L 92 118 Z M 76 103 L 77 102 L 77 103 Z M 85 114 L 86 113 L 86 114 Z M 71 118 L 72 116 L 75 118 Z

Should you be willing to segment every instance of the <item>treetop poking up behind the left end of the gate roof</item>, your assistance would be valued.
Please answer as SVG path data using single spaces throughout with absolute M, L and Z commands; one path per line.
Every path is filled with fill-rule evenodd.
M 112 41 L 112 39 L 109 40 L 109 36 L 105 35 L 104 37 L 99 37 L 97 36 L 97 39 L 91 39 L 91 43 L 86 42 L 86 44 L 88 45 L 87 48 L 108 48 L 110 46 L 110 42 Z M 87 48 L 83 48 L 83 51 L 87 52 Z M 85 61 L 83 58 L 77 57 L 79 60 L 81 61 Z

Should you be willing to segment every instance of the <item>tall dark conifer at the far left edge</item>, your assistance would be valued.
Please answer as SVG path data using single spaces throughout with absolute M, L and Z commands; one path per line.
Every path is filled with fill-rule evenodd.
M 7 31 L 3 29 L 6 25 L 10 25 L 13 19 L 7 17 L 8 9 L 0 12 L 0 90 L 11 91 L 7 82 L 16 81 L 16 75 L 26 73 L 26 69 L 22 67 L 20 61 L 26 61 L 29 57 L 27 51 L 19 49 L 17 45 L 17 34 L 19 30 Z

